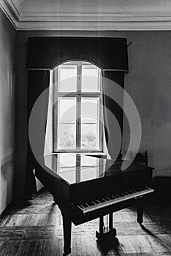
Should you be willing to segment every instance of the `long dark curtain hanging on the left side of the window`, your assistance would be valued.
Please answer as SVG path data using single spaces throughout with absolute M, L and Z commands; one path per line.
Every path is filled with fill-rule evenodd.
M 45 89 L 49 86 L 50 72 L 48 70 L 28 70 L 28 104 L 27 104 L 27 122 L 29 125 L 29 118 L 31 116 L 31 110 L 34 107 L 35 102 L 39 98 Z M 33 129 L 35 132 L 35 148 L 37 156 L 44 154 L 45 146 L 45 129 L 47 121 L 47 108 L 48 108 L 48 91 L 44 95 L 43 100 L 40 101 L 39 113 L 35 113 L 37 120 Z M 31 150 L 31 145 L 28 139 L 28 156 L 26 166 L 26 179 L 25 179 L 25 191 L 24 197 L 31 199 L 31 197 L 37 192 L 36 181 L 34 177 L 35 169 L 35 157 Z

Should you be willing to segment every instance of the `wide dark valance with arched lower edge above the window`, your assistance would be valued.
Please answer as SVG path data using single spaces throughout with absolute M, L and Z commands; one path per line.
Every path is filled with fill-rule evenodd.
M 126 38 L 30 37 L 28 69 L 53 69 L 65 61 L 89 61 L 101 69 L 128 72 Z

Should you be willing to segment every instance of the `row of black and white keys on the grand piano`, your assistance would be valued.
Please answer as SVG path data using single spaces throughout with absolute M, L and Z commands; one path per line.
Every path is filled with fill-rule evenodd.
M 86 214 L 90 211 L 94 211 L 106 206 L 111 206 L 115 203 L 121 203 L 125 200 L 140 197 L 142 195 L 147 195 L 153 191 L 154 190 L 151 189 L 150 187 L 141 187 L 139 189 L 132 189 L 126 192 L 121 192 L 115 195 L 103 197 L 99 200 L 93 200 L 88 203 L 83 203 L 81 205 L 78 205 L 77 207 L 80 208 L 81 211 L 83 211 L 83 214 Z

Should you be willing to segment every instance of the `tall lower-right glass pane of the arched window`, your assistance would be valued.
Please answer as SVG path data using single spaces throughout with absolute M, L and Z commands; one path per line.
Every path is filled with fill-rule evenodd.
M 81 149 L 99 150 L 99 98 L 82 98 Z

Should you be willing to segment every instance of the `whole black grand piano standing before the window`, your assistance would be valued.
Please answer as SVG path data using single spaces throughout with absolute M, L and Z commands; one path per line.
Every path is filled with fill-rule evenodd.
M 64 255 L 71 252 L 72 222 L 80 225 L 99 217 L 96 238 L 115 236 L 113 212 L 137 205 L 137 222 L 142 224 L 144 199 L 153 192 L 153 168 L 122 160 L 85 155 L 51 154 L 37 159 L 35 176 L 53 195 L 61 210 L 64 227 Z M 104 230 L 103 217 L 109 214 Z

